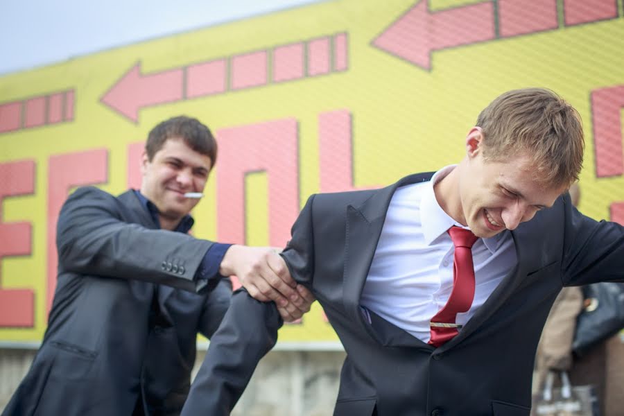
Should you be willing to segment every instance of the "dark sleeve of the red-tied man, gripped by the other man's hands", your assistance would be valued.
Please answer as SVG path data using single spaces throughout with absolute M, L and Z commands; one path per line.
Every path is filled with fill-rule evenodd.
M 312 287 L 313 235 L 311 197 L 282 252 L 295 280 Z M 191 385 L 182 416 L 229 415 L 247 387 L 260 359 L 275 345 L 283 321 L 273 302 L 254 300 L 236 291 L 223 322 L 210 339 L 198 375 Z

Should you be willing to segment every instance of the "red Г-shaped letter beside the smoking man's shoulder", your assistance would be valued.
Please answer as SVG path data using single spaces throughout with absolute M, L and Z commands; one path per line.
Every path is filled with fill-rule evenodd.
M 108 151 L 87 150 L 51 156 L 48 164 L 48 293 L 47 312 L 52 306 L 56 288 L 56 223 L 69 190 L 73 187 L 106 182 Z

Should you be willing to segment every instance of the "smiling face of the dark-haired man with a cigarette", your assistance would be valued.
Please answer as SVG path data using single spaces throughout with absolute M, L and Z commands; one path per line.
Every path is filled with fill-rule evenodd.
M 202 192 L 211 167 L 210 157 L 176 137 L 167 139 L 152 160 L 143 155 L 141 193 L 158 208 L 162 228 L 174 229 L 197 205 L 198 199 L 184 193 Z

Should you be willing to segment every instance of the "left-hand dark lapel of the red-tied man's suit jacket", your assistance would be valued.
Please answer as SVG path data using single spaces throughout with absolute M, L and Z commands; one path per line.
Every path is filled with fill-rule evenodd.
M 343 276 L 343 304 L 354 322 L 366 331 L 371 331 L 360 309 L 360 297 L 368 275 L 370 264 L 381 235 L 385 214 L 392 195 L 398 187 L 417 182 L 426 182 L 433 173 L 410 175 L 390 187 L 375 191 L 362 205 L 347 207 L 345 236 L 345 270 Z

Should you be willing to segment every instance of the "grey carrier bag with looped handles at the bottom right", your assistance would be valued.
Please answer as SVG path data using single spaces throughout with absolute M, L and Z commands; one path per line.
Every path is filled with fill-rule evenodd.
M 598 416 L 598 401 L 591 385 L 571 385 L 560 373 L 561 388 L 553 388 L 555 372 L 546 374 L 544 390 L 533 396 L 531 416 Z

